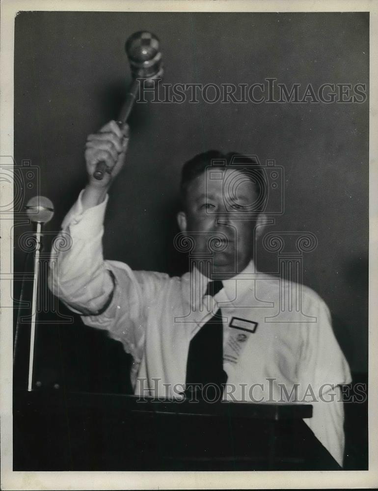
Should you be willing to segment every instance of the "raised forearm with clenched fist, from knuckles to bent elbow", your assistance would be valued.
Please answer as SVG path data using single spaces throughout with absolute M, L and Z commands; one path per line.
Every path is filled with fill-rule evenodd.
M 88 183 L 62 223 L 62 231 L 53 246 L 49 285 L 56 296 L 72 310 L 83 315 L 99 315 L 111 301 L 114 274 L 104 262 L 102 236 L 107 193 L 125 163 L 129 127 L 122 130 L 110 121 L 89 135 L 85 148 Z M 93 173 L 98 162 L 105 162 L 102 180 Z M 59 250 L 62 236 L 69 242 Z

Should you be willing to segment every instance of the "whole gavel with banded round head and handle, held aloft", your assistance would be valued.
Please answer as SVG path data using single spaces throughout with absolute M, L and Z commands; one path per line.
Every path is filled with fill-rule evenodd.
M 163 75 L 162 54 L 159 39 L 155 34 L 138 31 L 132 34 L 125 44 L 126 54 L 129 58 L 133 82 L 129 87 L 126 101 L 119 113 L 117 123 L 121 127 L 133 109 L 138 93 L 138 79 L 145 79 L 145 84 L 154 83 L 154 79 L 161 79 Z M 109 172 L 105 162 L 98 162 L 93 177 L 101 181 L 105 172 Z

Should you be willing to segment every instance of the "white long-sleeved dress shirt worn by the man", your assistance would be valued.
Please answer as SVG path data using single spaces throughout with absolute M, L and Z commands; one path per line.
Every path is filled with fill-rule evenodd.
M 53 247 L 49 284 L 86 325 L 106 329 L 133 356 L 135 394 L 180 397 L 190 340 L 221 308 L 228 375 L 224 399 L 288 402 L 286 394 L 296 386 L 297 397 L 290 402 L 313 405 L 313 417 L 305 422 L 342 465 L 344 409 L 338 385 L 350 383 L 351 374 L 324 301 L 308 287 L 258 273 L 253 261 L 224 280 L 213 299 L 204 297 L 210 280 L 195 268 L 169 277 L 104 260 L 107 202 L 108 196 L 83 212 L 80 194 L 62 223 L 72 246 L 57 256 Z M 299 311 L 283 300 L 297 288 Z M 334 401 L 325 402 L 332 394 Z

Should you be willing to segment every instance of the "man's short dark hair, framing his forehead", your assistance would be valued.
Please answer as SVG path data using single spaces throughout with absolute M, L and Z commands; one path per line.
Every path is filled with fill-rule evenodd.
M 186 208 L 189 184 L 207 168 L 235 169 L 242 172 L 255 187 L 257 199 L 250 211 L 259 213 L 266 206 L 268 198 L 267 176 L 257 159 L 236 152 L 223 154 L 218 150 L 208 150 L 195 155 L 183 165 L 180 183 L 180 206 Z

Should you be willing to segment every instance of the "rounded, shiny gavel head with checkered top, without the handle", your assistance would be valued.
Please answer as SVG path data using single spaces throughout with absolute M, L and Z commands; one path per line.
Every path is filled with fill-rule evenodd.
M 162 54 L 155 34 L 138 31 L 126 41 L 126 53 L 134 79 L 160 79 L 163 75 Z

